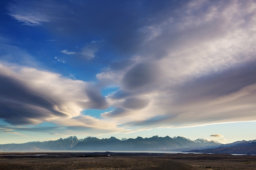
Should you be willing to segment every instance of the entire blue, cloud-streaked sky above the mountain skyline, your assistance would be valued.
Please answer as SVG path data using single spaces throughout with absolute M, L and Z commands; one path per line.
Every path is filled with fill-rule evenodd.
M 256 139 L 255 0 L 2 0 L 0 144 Z

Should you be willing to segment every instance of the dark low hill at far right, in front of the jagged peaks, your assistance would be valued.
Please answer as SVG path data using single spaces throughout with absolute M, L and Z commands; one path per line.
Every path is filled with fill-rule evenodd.
M 234 145 L 232 145 L 234 144 Z M 211 148 L 204 150 L 189 150 L 188 152 L 199 152 L 199 153 L 228 153 L 228 154 L 246 154 L 246 155 L 256 155 L 256 142 L 255 140 L 234 142 L 227 147 L 221 146 L 219 148 Z

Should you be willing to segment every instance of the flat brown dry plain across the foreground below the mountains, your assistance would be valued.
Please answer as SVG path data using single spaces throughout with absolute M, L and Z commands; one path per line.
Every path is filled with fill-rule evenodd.
M 256 156 L 110 152 L 0 153 L 0 170 L 256 170 Z

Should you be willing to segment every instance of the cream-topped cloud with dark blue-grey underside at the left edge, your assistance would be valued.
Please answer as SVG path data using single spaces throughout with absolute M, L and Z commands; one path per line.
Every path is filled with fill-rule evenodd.
M 35 68 L 0 64 L 0 80 L 0 118 L 13 125 L 69 119 L 106 106 L 96 88 L 86 92 L 89 83 Z

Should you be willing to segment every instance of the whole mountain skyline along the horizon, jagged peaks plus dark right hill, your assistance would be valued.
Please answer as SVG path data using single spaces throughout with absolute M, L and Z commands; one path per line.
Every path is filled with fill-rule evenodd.
M 68 137 L 55 141 L 33 141 L 24 144 L 0 144 L 2 151 L 18 150 L 86 150 L 86 151 L 183 151 L 228 154 L 256 154 L 256 140 L 236 141 L 231 144 L 220 144 L 217 141 L 196 139 L 192 141 L 185 137 L 137 137 L 136 139 L 121 140 L 110 137 L 98 139 L 96 137 Z

